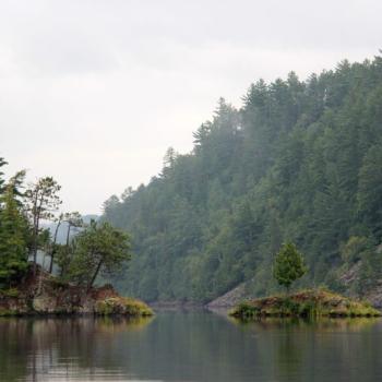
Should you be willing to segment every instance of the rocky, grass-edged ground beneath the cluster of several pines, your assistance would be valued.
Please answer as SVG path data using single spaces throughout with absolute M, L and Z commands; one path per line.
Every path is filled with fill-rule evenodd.
M 119 296 L 111 285 L 91 289 L 63 283 L 38 268 L 15 287 L 0 290 L 0 317 L 5 315 L 153 315 L 143 301 Z

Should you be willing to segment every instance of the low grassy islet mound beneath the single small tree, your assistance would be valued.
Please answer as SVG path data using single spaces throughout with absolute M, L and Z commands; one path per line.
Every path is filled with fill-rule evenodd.
M 229 315 L 250 320 L 261 317 L 351 318 L 381 317 L 369 303 L 349 299 L 327 290 L 302 290 L 293 295 L 279 295 L 237 305 Z

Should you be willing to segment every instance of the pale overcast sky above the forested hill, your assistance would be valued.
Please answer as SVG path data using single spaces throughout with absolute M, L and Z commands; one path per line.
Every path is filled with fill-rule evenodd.
M 184 153 L 219 96 L 382 48 L 381 0 L 0 0 L 0 156 L 99 213 Z

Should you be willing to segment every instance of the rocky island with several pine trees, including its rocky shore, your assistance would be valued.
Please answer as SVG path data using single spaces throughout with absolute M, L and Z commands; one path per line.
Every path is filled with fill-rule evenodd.
M 0 172 L 0 317 L 152 315 L 144 302 L 119 296 L 111 285 L 96 286 L 131 259 L 129 234 L 105 220 L 86 224 L 77 212 L 57 214 L 56 180 L 40 178 L 24 191 L 24 178 L 22 170 L 5 183 Z

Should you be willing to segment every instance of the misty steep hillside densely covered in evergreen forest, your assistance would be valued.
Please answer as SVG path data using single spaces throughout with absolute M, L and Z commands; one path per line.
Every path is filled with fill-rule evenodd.
M 220 99 L 191 153 L 169 150 L 147 186 L 105 203 L 134 242 L 119 286 L 148 301 L 208 301 L 243 280 L 272 291 L 284 240 L 306 255 L 300 285 L 341 290 L 357 263 L 366 293 L 382 274 L 381 215 L 381 57 L 260 80 L 240 109 Z

